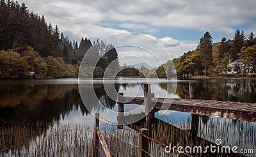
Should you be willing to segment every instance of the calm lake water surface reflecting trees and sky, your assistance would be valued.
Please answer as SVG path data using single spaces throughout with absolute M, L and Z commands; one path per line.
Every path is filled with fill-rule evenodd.
M 225 100 L 256 103 L 256 80 L 221 79 L 221 80 L 166 80 L 160 82 L 151 79 L 151 90 L 156 97 L 188 98 L 189 82 L 197 82 L 197 98 L 205 100 Z M 90 113 L 100 112 L 100 116 L 107 117 L 112 123 L 117 122 L 117 114 L 111 114 L 108 110 L 94 107 L 93 104 L 83 104 L 79 94 L 77 79 L 54 80 L 0 80 L 0 133 L 12 132 L 13 126 L 20 124 L 45 123 L 31 131 L 37 131 L 27 137 L 27 142 L 20 142 L 20 146 L 8 148 L 1 144 L 0 150 L 8 153 L 11 149 L 20 149 L 23 145 L 31 149 L 33 138 L 40 138 L 42 130 L 49 130 L 61 124 L 71 124 L 76 128 L 77 124 L 86 124 L 89 130 L 93 129 L 94 117 Z M 91 84 L 92 80 L 84 80 L 83 84 Z M 126 96 L 143 96 L 144 79 L 116 79 L 115 88 Z M 177 88 L 176 88 L 177 87 Z M 176 88 L 176 93 L 175 89 Z M 111 100 L 104 90 L 102 80 L 93 80 L 93 90 L 99 101 L 109 110 L 117 111 L 116 101 Z M 92 91 L 88 90 L 88 94 Z M 90 101 L 91 102 L 91 101 Z M 85 102 L 86 103 L 86 102 Z M 138 108 L 137 113 L 144 112 L 140 105 L 125 105 L 125 112 Z M 163 114 L 161 116 L 161 114 Z M 131 112 L 131 114 L 136 114 Z M 193 116 L 188 113 L 168 110 L 156 113 L 157 119 L 172 124 L 180 130 L 191 128 Z M 111 124 L 100 123 L 100 126 L 115 130 Z M 104 131 L 108 131 L 108 129 Z M 30 134 L 29 134 L 30 135 Z M 4 135 L 1 135 L 4 139 Z M 19 135 L 15 135 L 19 136 Z M 165 135 L 175 136 L 175 135 Z M 256 123 L 235 121 L 218 117 L 199 116 L 196 136 L 210 142 L 222 140 L 223 146 L 237 146 L 239 149 L 253 149 L 256 153 Z M 24 139 L 20 139 L 24 140 Z M 15 142 L 13 142 L 15 143 Z M 22 145 L 23 144 L 23 145 Z M 14 151 L 15 152 L 15 151 Z M 244 154 L 255 156 L 254 154 Z

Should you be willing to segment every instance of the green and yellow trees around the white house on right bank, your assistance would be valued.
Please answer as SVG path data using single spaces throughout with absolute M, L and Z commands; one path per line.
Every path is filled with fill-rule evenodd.
M 232 40 L 222 38 L 221 42 L 212 43 L 211 34 L 206 32 L 200 38 L 196 50 L 173 59 L 173 63 L 179 77 L 255 76 L 255 36 L 250 33 L 246 39 L 244 31 L 237 30 Z

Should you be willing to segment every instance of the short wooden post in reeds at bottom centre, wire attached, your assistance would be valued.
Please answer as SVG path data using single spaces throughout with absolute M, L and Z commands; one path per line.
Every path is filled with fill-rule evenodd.
M 148 129 L 141 128 L 139 133 L 140 133 L 139 147 L 141 148 L 141 149 L 139 149 L 139 157 L 149 156 L 148 154 L 150 154 L 150 152 L 149 152 L 150 149 L 148 149 L 148 142 L 150 142 L 150 140 L 148 140 L 148 138 L 146 138 L 146 137 L 141 136 L 141 135 L 145 135 L 148 137 Z

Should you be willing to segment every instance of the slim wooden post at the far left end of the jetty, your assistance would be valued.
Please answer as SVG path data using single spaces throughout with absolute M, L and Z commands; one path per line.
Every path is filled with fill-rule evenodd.
M 118 105 L 118 129 L 123 128 L 124 124 L 124 93 L 118 93 L 117 94 L 117 105 Z

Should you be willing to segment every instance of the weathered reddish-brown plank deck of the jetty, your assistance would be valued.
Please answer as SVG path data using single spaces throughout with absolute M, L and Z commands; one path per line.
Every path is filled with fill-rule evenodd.
M 144 105 L 143 97 L 124 98 L 127 103 Z M 152 98 L 152 103 L 156 104 L 154 107 L 156 110 L 175 110 L 203 116 L 256 122 L 256 103 L 180 98 Z

